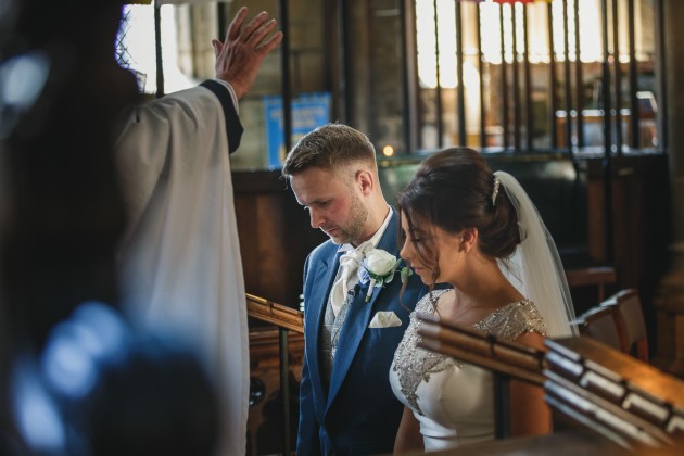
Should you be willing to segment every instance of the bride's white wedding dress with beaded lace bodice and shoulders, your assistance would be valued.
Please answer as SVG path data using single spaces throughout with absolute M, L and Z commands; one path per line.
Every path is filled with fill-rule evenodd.
M 433 292 L 439 295 L 448 290 Z M 426 452 L 494 439 L 493 377 L 487 370 L 416 346 L 421 321 L 433 314 L 430 295 L 410 315 L 404 339 L 394 354 L 390 383 L 394 394 L 420 422 Z M 472 326 L 504 340 L 535 331 L 546 337 L 536 306 L 527 300 L 510 303 Z

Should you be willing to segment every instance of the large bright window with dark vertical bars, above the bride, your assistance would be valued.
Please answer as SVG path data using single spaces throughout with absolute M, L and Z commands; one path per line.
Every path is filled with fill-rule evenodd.
M 655 1 L 414 1 L 419 149 L 660 145 Z

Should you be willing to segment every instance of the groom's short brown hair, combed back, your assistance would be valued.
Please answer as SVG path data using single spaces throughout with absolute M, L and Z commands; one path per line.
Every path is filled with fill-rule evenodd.
M 372 142 L 350 126 L 326 124 L 300 139 L 286 156 L 281 174 L 287 178 L 314 167 L 335 172 L 354 162 L 377 167 Z

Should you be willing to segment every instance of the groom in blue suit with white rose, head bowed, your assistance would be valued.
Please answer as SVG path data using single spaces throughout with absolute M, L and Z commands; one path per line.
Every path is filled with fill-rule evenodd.
M 312 227 L 330 237 L 304 266 L 297 455 L 391 453 L 403 406 L 390 365 L 427 289 L 410 276 L 401 293 L 405 265 L 388 258 L 398 258 L 398 215 L 382 195 L 375 148 L 362 132 L 328 124 L 290 151 L 282 175 Z M 368 273 L 383 286 L 371 288 Z

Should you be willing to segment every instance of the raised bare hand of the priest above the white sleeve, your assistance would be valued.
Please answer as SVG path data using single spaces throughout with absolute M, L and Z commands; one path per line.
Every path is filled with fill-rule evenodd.
M 263 11 L 244 24 L 246 15 L 248 9 L 242 7 L 228 27 L 226 41 L 212 40 L 216 77 L 228 81 L 238 99 L 250 91 L 264 59 L 282 40 L 282 31 L 268 37 L 278 25 L 268 20 L 268 13 Z

